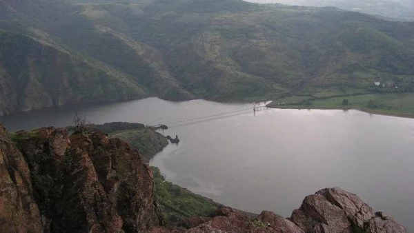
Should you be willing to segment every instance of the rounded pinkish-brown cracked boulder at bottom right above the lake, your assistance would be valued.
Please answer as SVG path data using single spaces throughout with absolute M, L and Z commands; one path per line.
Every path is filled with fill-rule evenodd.
M 304 232 L 408 232 L 393 219 L 375 216 L 371 207 L 355 194 L 340 188 L 326 188 L 306 196 L 301 207 L 290 218 Z

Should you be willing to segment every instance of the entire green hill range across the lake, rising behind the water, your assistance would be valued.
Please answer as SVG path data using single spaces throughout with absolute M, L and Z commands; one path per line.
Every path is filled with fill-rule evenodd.
M 367 92 L 389 80 L 411 92 L 414 80 L 414 23 L 333 8 L 0 0 L 0 29 L 0 114 L 148 96 Z

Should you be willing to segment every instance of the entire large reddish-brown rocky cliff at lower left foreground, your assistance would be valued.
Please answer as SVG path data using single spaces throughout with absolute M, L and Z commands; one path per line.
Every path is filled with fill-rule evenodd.
M 142 232 L 159 225 L 152 170 L 103 132 L 0 136 L 1 232 Z M 12 200 L 12 201 L 10 201 Z

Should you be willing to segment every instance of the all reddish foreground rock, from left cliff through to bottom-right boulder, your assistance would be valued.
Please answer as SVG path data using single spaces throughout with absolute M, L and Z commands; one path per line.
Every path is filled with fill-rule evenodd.
M 160 226 L 152 169 L 98 130 L 0 125 L 0 174 L 0 232 L 408 232 L 339 188 L 306 196 L 290 219 L 221 207 Z

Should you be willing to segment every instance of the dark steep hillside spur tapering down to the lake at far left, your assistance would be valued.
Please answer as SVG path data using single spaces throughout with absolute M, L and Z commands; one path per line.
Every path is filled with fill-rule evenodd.
M 0 113 L 148 95 L 127 77 L 112 74 L 75 54 L 2 31 L 0 87 Z

